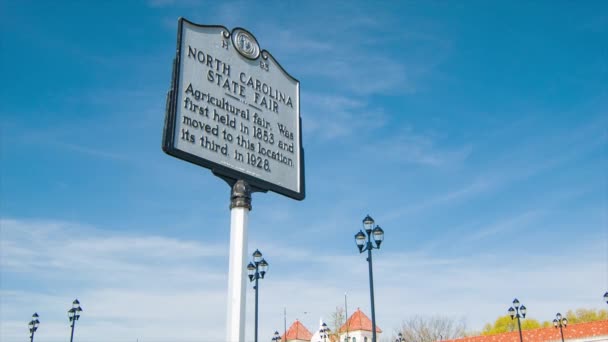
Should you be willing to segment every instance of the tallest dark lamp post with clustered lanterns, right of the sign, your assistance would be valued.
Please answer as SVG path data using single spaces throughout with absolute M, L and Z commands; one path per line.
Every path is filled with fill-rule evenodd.
M 359 230 L 357 234 L 355 234 L 355 242 L 357 243 L 357 247 L 359 248 L 359 253 L 363 253 L 367 251 L 367 263 L 369 265 L 369 296 L 372 303 L 372 342 L 377 342 L 376 340 L 376 311 L 374 305 L 374 272 L 372 270 L 372 249 L 380 249 L 380 244 L 384 240 L 384 231 L 380 226 L 376 226 L 374 219 L 372 219 L 369 215 L 365 216 L 363 219 L 363 227 L 365 229 L 365 233 L 367 234 L 367 239 L 365 237 L 365 233 L 362 230 Z M 372 243 L 372 235 L 374 237 L 373 241 L 375 245 Z

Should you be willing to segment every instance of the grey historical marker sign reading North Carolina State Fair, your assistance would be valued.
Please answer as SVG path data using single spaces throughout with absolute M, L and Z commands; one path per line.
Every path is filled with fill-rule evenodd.
M 300 82 L 242 28 L 178 26 L 163 150 L 304 199 Z

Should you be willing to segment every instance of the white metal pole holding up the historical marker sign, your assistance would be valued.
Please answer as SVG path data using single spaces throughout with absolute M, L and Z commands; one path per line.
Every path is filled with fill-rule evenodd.
M 251 189 L 237 181 L 230 194 L 230 257 L 228 265 L 228 309 L 226 341 L 245 341 L 245 289 L 247 223 L 251 210 Z

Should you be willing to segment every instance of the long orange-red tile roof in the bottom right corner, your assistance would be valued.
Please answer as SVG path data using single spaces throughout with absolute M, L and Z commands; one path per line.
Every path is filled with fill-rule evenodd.
M 588 323 L 570 324 L 563 328 L 564 340 L 580 339 L 584 337 L 608 337 L 608 320 Z M 561 341 L 559 328 L 548 327 L 522 331 L 524 342 Z M 441 342 L 519 342 L 519 331 L 512 331 L 497 335 L 471 336 Z

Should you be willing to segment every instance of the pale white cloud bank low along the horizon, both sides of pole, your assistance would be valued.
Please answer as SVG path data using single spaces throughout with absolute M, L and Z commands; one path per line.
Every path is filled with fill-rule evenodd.
M 63 222 L 2 219 L 0 224 L 3 340 L 23 335 L 23 321 L 34 311 L 42 316 L 41 341 L 62 339 L 67 326 L 64 311 L 73 297 L 78 297 L 85 309 L 78 336 L 88 341 L 101 341 L 100 336 L 104 340 L 159 342 L 223 339 L 227 277 L 225 262 L 218 263 L 217 256 L 226 258 L 226 246 L 102 233 L 94 227 Z M 260 284 L 264 298 L 261 336 L 281 330 L 284 307 L 288 323 L 300 318 L 314 328 L 320 317 L 329 317 L 336 306 L 343 305 L 345 291 L 350 310 L 361 307 L 369 312 L 367 267 L 362 256 L 342 255 L 332 249 L 317 254 L 276 242 L 264 247 L 281 260 L 272 260 L 272 272 Z M 600 291 L 593 284 L 601 284 L 603 263 L 601 248 L 587 247 L 556 255 L 550 262 L 530 251 L 512 256 L 509 263 L 500 262 L 502 255 L 445 258 L 381 250 L 374 261 L 379 325 L 390 332 L 408 312 L 415 312 L 466 317 L 470 327 L 480 328 L 488 321 L 487 312 L 502 314 L 516 276 L 527 279 L 518 284 L 516 292 L 526 305 L 535 308 L 535 318 L 542 319 L 555 310 L 545 295 L 548 289 L 579 293 L 576 300 L 564 303 L 592 307 L 595 292 Z M 584 266 L 570 258 L 573 253 L 587 260 Z M 527 266 L 522 271 L 517 263 L 524 259 Z M 286 269 L 302 263 L 313 267 Z M 14 277 L 25 277 L 37 286 L 14 288 L 10 281 Z M 570 280 L 564 281 L 564 277 Z M 62 278 L 65 281 L 58 281 Z M 66 286 L 83 282 L 86 290 Z M 247 315 L 251 317 L 253 298 L 250 289 L 247 291 Z M 471 310 L 467 305 L 471 302 L 483 308 Z M 248 332 L 252 331 L 251 323 L 248 320 Z

